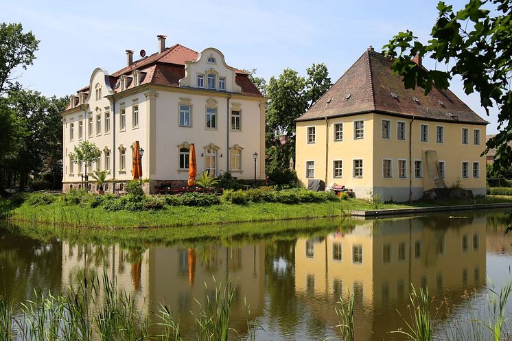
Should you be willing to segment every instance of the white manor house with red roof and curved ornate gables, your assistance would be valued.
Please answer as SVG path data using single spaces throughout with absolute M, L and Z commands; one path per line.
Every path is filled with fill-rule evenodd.
M 127 50 L 126 67 L 111 75 L 95 69 L 89 85 L 71 96 L 61 113 L 63 191 L 82 186 L 85 165 L 72 162 L 81 141 L 100 148 L 88 172 L 108 171 L 109 192 L 132 180 L 135 141 L 144 150 L 148 192 L 161 184 L 186 184 L 191 143 L 198 173 L 264 178 L 266 98 L 248 74 L 226 64 L 218 49 L 198 53 L 179 44 L 165 47 L 165 36 L 157 38 L 156 54 L 133 61 Z

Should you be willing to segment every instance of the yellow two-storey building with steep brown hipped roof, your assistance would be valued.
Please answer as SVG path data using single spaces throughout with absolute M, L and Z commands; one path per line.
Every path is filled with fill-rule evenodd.
M 297 119 L 301 183 L 321 179 L 358 198 L 395 201 L 452 185 L 484 195 L 488 122 L 450 90 L 404 89 L 391 62 L 369 48 Z

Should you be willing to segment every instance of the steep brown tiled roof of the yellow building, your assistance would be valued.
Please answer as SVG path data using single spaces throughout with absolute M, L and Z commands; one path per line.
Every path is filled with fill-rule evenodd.
M 425 95 L 419 87 L 405 89 L 401 78 L 393 74 L 391 63 L 378 52 L 365 51 L 297 121 L 375 112 L 432 121 L 488 123 L 450 90 L 433 87 Z

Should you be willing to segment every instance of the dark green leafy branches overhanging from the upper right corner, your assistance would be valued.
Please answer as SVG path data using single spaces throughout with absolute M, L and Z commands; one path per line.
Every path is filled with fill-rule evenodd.
M 407 89 L 420 86 L 429 93 L 432 86 L 447 89 L 448 81 L 460 75 L 465 93 L 477 91 L 487 115 L 498 108 L 498 134 L 487 141 L 488 152 L 496 148 L 494 167 L 507 167 L 512 159 L 512 1 L 469 0 L 463 10 L 440 1 L 439 17 L 426 45 L 411 31 L 400 32 L 384 46 L 395 58 L 393 70 L 402 76 Z M 452 67 L 428 71 L 412 61 L 416 55 L 430 55 Z

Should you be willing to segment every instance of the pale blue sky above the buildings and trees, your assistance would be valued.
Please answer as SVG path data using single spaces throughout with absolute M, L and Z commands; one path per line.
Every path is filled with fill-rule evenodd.
M 467 1 L 450 1 L 462 8 Z M 80 4 L 80 6 L 78 6 Z M 323 62 L 335 82 L 373 45 L 397 32 L 412 30 L 426 41 L 437 18 L 437 1 L 9 1 L 0 21 L 22 23 L 41 40 L 34 65 L 18 71 L 27 88 L 44 95 L 69 95 L 102 67 L 124 67 L 126 49 L 157 48 L 157 34 L 167 46 L 180 43 L 196 51 L 216 47 L 239 69 L 257 69 L 268 80 L 290 67 L 305 74 Z M 426 67 L 435 65 L 425 60 Z M 446 66 L 437 67 L 445 68 Z M 451 88 L 496 132 L 496 113 L 480 107 L 478 95 L 465 95 L 461 80 Z

